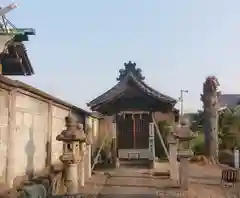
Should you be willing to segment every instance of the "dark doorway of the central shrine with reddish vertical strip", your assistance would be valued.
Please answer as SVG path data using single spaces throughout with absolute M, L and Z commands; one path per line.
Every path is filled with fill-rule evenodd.
M 149 147 L 149 114 L 123 114 L 117 117 L 118 154 L 148 150 Z M 125 157 L 124 157 L 125 156 Z M 119 156 L 121 158 L 121 156 Z M 140 157 L 141 158 L 141 157 Z

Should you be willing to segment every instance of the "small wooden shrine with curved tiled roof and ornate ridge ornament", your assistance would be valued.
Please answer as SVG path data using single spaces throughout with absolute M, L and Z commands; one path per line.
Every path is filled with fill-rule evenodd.
M 153 159 L 152 114 L 157 121 L 175 121 L 177 100 L 159 93 L 144 82 L 136 63 L 125 63 L 118 83 L 88 103 L 92 111 L 111 117 L 116 137 L 116 155 L 121 159 Z M 152 125 L 153 126 L 153 125 Z M 154 148 L 153 148 L 154 147 Z

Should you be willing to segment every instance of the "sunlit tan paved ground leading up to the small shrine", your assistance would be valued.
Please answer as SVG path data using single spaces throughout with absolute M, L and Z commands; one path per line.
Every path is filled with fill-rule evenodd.
M 191 164 L 188 192 L 181 192 L 172 181 L 154 177 L 153 172 L 167 172 L 167 163 L 159 163 L 154 170 L 143 167 L 120 167 L 97 173 L 86 183 L 83 193 L 95 197 L 163 197 L 163 198 L 235 198 L 221 185 L 221 170 L 216 166 Z M 98 196 L 96 196 L 98 194 Z

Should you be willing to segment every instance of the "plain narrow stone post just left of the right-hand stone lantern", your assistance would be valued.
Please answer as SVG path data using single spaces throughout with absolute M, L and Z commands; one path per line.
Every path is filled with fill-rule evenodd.
M 170 126 L 170 135 L 168 137 L 168 144 L 169 144 L 169 163 L 170 163 L 170 179 L 174 182 L 179 182 L 179 172 L 178 172 L 178 161 L 177 161 L 177 139 L 174 137 L 174 130 Z

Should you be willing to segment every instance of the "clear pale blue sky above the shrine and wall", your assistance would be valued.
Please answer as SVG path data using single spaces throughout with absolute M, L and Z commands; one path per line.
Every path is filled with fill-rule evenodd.
M 129 60 L 160 92 L 178 98 L 188 89 L 185 111 L 201 108 L 208 75 L 223 93 L 240 93 L 239 0 L 16 3 L 8 18 L 37 32 L 26 43 L 36 74 L 18 79 L 79 107 L 111 88 Z

